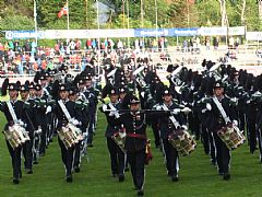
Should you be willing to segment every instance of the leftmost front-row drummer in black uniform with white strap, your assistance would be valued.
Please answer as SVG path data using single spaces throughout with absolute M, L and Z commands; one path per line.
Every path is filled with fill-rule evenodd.
M 7 118 L 7 124 L 4 126 L 4 130 L 9 130 L 9 127 L 12 127 L 14 124 L 19 124 L 24 127 L 24 119 L 25 119 L 25 112 L 24 112 L 24 103 L 22 101 L 17 100 L 19 96 L 19 84 L 15 83 L 9 83 L 8 84 L 9 90 L 9 96 L 12 109 L 14 111 L 14 116 L 12 116 L 12 113 L 10 108 L 8 107 L 8 102 L 1 102 L 0 103 L 0 111 L 4 113 L 4 116 Z M 7 94 L 7 86 L 2 86 L 2 95 Z M 10 157 L 12 159 L 12 166 L 13 166 L 13 183 L 19 184 L 20 178 L 22 178 L 22 170 L 21 170 L 21 151 L 22 146 L 20 144 L 16 148 L 12 148 L 8 140 L 7 146 L 9 149 Z

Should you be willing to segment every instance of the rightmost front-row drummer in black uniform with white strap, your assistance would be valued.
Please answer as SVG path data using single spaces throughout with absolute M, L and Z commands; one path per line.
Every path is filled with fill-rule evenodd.
M 206 108 L 210 111 L 209 116 L 211 118 L 211 121 L 209 124 L 209 129 L 213 132 L 215 140 L 218 173 L 219 175 L 223 175 L 224 179 L 229 179 L 230 150 L 218 137 L 217 131 L 229 123 L 237 125 L 237 113 L 236 107 L 230 104 L 230 99 L 224 94 L 224 88 L 225 85 L 223 82 L 215 82 L 214 96 L 211 103 L 206 105 Z M 217 105 L 215 102 L 219 102 L 227 117 L 223 117 L 218 107 L 219 105 Z

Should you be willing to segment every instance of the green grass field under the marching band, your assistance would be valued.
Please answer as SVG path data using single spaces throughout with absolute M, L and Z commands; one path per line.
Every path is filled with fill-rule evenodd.
M 0 114 L 1 129 L 5 123 Z M 66 183 L 57 139 L 49 146 L 47 154 L 34 166 L 34 174 L 23 173 L 19 185 L 12 183 L 11 159 L 3 135 L 0 135 L 0 196 L 136 196 L 131 173 L 119 183 L 111 177 L 109 155 L 104 138 L 106 120 L 98 114 L 98 128 L 94 148 L 88 149 L 88 162 L 82 161 L 81 172 L 73 174 L 73 183 Z M 152 130 L 147 129 L 152 138 Z M 153 142 L 153 140 L 152 140 Z M 152 144 L 154 159 L 146 167 L 145 196 L 262 196 L 262 164 L 259 152 L 249 153 L 246 144 L 233 151 L 231 179 L 223 181 L 216 167 L 211 165 L 198 141 L 196 150 L 180 159 L 179 182 L 172 183 L 166 175 L 164 158 Z

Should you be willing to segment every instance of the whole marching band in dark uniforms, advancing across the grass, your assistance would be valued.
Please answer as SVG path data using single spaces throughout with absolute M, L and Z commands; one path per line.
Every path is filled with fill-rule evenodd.
M 136 67 L 130 62 L 112 67 L 110 59 L 104 65 L 103 89 L 93 65 L 75 77 L 62 65 L 37 72 L 25 84 L 5 79 L 2 95 L 9 94 L 9 100 L 0 103 L 0 109 L 7 118 L 3 134 L 14 184 L 22 178 L 22 157 L 26 172 L 33 174 L 33 164 L 46 154 L 55 136 L 66 181 L 72 182 L 72 172 L 80 172 L 81 158 L 93 147 L 97 109 L 107 119 L 111 174 L 123 182 L 130 167 L 139 196 L 144 195 L 145 164 L 152 159 L 147 126 L 172 182 L 179 181 L 179 157 L 189 155 L 196 141 L 225 181 L 230 178 L 230 151 L 245 141 L 251 153 L 259 149 L 262 162 L 262 76 L 204 60 L 199 72 L 169 65 L 165 85 L 143 59 Z

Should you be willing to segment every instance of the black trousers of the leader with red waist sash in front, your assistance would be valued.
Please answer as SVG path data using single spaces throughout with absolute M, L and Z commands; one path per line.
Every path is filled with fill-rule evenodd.
M 144 186 L 144 161 L 145 161 L 145 149 L 127 152 L 128 161 L 131 166 L 131 173 L 133 177 L 133 184 L 138 189 L 143 189 Z

